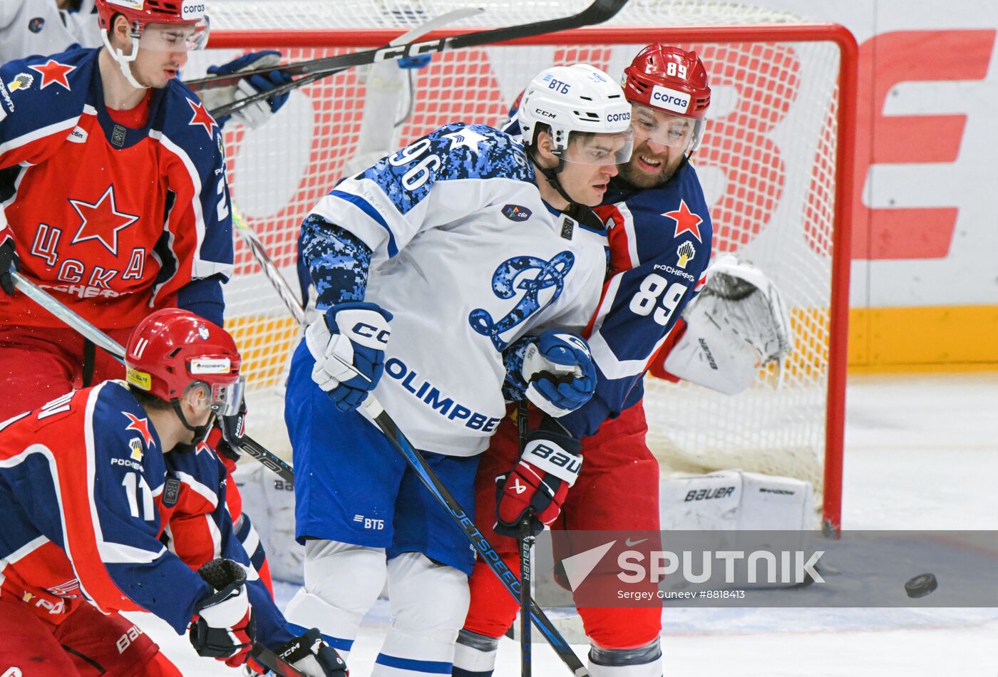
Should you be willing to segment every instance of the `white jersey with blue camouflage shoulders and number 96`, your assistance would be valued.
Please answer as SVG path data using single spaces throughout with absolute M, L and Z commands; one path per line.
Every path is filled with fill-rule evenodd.
M 582 331 L 606 235 L 549 207 L 518 139 L 443 127 L 339 183 L 312 209 L 373 251 L 365 301 L 393 314 L 374 390 L 417 448 L 473 456 L 505 414 L 502 351 Z

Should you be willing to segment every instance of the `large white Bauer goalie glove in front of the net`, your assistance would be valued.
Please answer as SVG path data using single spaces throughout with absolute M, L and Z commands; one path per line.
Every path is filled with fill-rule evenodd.
M 683 314 L 686 333 L 666 357 L 666 370 L 685 381 L 735 395 L 759 366 L 793 348 L 786 306 L 772 281 L 732 254 L 707 271 L 708 280 Z

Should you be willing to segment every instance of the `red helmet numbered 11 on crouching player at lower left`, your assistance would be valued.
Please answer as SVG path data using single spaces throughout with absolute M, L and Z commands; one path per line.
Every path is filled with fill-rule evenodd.
M 158 310 L 132 332 L 125 353 L 126 380 L 165 402 L 192 384 L 211 391 L 220 416 L 239 412 L 243 399 L 240 351 L 228 331 L 180 308 Z

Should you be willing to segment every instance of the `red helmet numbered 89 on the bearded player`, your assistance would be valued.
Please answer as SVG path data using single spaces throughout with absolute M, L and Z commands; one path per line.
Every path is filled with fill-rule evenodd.
M 703 120 L 711 105 L 707 69 L 696 52 L 649 45 L 624 69 L 624 96 L 674 115 Z

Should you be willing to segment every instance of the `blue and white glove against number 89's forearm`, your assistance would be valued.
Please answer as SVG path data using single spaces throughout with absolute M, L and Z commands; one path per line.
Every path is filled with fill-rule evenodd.
M 596 392 L 596 365 L 589 344 L 567 331 L 543 332 L 526 346 L 520 364 L 514 357 L 507 367 L 514 375 L 519 372 L 525 397 L 554 418 L 574 412 Z

